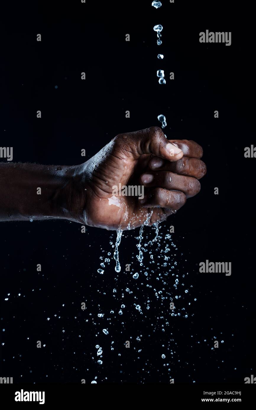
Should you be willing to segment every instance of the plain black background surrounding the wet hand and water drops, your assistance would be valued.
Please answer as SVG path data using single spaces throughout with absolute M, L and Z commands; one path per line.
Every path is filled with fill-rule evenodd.
M 201 192 L 160 230 L 166 234 L 175 226 L 178 271 L 189 273 L 187 319 L 171 317 L 168 301 L 163 308 L 155 300 L 154 274 L 149 291 L 143 272 L 136 285 L 124 272 L 128 263 L 134 272 L 140 269 L 138 232 L 124 234 L 117 274 L 109 244 L 115 233 L 88 227 L 81 234 L 81 226 L 68 221 L 0 224 L 1 376 L 13 377 L 14 383 L 90 383 L 95 376 L 97 383 L 169 383 L 170 377 L 175 383 L 244 383 L 255 373 L 255 159 L 244 158 L 244 147 L 255 142 L 254 32 L 242 14 L 250 11 L 245 3 L 237 8 L 233 2 L 226 7 L 224 2 L 162 4 L 156 10 L 150 0 L 14 2 L 2 13 L 0 146 L 13 147 L 13 162 L 79 164 L 82 148 L 88 159 L 116 134 L 159 125 L 157 116 L 164 114 L 167 137 L 201 144 L 208 168 Z M 161 46 L 155 24 L 164 27 Z M 199 32 L 207 29 L 231 31 L 231 46 L 199 43 Z M 165 86 L 158 84 L 159 68 L 166 73 Z M 168 80 L 171 71 L 175 80 Z M 145 232 L 154 237 L 151 228 Z M 99 257 L 108 252 L 111 264 L 99 275 Z M 199 274 L 198 264 L 206 259 L 232 262 L 231 276 Z M 172 292 L 173 278 L 166 282 Z M 135 311 L 126 287 L 140 304 L 150 298 L 150 310 L 143 305 L 143 315 Z M 122 303 L 126 309 L 119 316 Z M 164 333 L 161 316 L 169 322 Z M 106 327 L 108 335 L 102 333 Z M 214 336 L 219 349 L 212 351 Z M 38 349 L 37 340 L 46 347 Z M 102 365 L 97 343 L 103 348 Z

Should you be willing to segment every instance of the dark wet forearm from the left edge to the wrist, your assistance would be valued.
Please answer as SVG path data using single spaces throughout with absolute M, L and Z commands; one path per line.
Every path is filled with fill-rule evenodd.
M 73 174 L 68 166 L 0 163 L 0 221 L 72 220 Z

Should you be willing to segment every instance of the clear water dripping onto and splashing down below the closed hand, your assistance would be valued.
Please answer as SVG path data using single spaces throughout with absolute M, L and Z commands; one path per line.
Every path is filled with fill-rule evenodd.
M 155 5 L 153 5 L 153 3 Z M 152 6 L 158 8 L 156 7 L 156 5 L 160 2 L 155 1 L 153 3 Z M 161 7 L 161 3 L 159 7 Z M 161 25 L 154 26 L 154 31 L 157 32 L 158 45 L 162 43 L 160 39 L 162 30 L 163 27 Z M 161 60 L 164 56 L 162 54 L 159 54 L 157 57 L 159 60 Z M 164 79 L 164 70 L 158 70 L 157 76 L 159 77 L 160 84 L 166 84 L 166 81 Z M 165 128 L 167 125 L 165 116 L 163 114 L 160 114 L 157 118 L 158 121 L 161 122 L 162 128 Z M 145 222 L 141 225 L 139 236 L 136 237 L 136 239 L 139 240 L 139 242 L 136 244 L 136 247 L 138 248 L 138 255 L 136 255 L 136 250 L 135 252 L 132 251 L 132 255 L 129 255 L 127 250 L 127 254 L 125 255 L 125 257 L 127 257 L 127 263 L 129 262 L 129 264 L 127 264 L 126 266 L 129 266 L 129 268 L 131 266 L 131 274 L 128 274 L 127 272 L 130 269 L 125 269 L 124 271 L 124 275 L 126 275 L 125 286 L 123 282 L 121 284 L 118 284 L 118 281 L 120 280 L 119 275 L 115 275 L 115 277 L 111 275 L 111 278 L 109 278 L 109 280 L 113 281 L 114 305 L 111 306 L 111 310 L 108 310 L 108 312 L 110 312 L 111 314 L 110 316 L 108 316 L 107 312 L 105 317 L 104 313 L 98 314 L 98 318 L 100 318 L 98 319 L 98 324 L 100 322 L 100 328 L 96 334 L 96 337 L 101 334 L 100 337 L 104 338 L 102 339 L 102 344 L 106 344 L 106 341 L 108 340 L 108 330 L 112 338 L 113 332 L 119 332 L 118 326 L 120 326 L 120 328 L 123 330 L 124 326 L 128 326 L 128 324 L 130 326 L 131 322 L 134 323 L 134 327 L 131 328 L 130 337 L 127 336 L 127 339 L 134 339 L 135 343 L 139 343 L 141 342 L 141 340 L 143 342 L 143 337 L 145 335 L 147 335 L 147 337 L 155 337 L 158 333 L 159 348 L 163 348 L 163 350 L 159 351 L 159 356 L 162 358 L 161 366 L 163 367 L 163 370 L 166 370 L 166 378 L 168 380 L 170 376 L 173 376 L 170 374 L 171 368 L 173 369 L 173 366 L 175 366 L 175 364 L 179 365 L 178 363 L 180 362 L 180 360 L 178 359 L 179 352 L 176 353 L 175 351 L 175 349 L 178 348 L 177 342 L 175 341 L 173 336 L 168 337 L 166 341 L 166 338 L 164 338 L 164 332 L 166 331 L 166 333 L 169 332 L 171 335 L 173 335 L 171 332 L 173 331 L 173 326 L 175 326 L 176 320 L 179 321 L 181 318 L 184 318 L 184 320 L 189 320 L 188 318 L 192 318 L 194 316 L 194 313 L 192 313 L 191 311 L 189 312 L 189 306 L 191 305 L 188 299 L 190 289 L 189 284 L 185 279 L 188 275 L 188 272 L 185 271 L 186 267 L 184 258 L 180 257 L 180 262 L 177 265 L 176 256 L 178 248 L 175 243 L 173 243 L 171 235 L 169 233 L 167 233 L 165 236 L 161 235 L 161 229 L 163 228 L 163 225 L 161 225 L 159 221 L 153 224 L 153 227 L 155 228 L 155 235 L 154 233 L 152 235 L 151 229 L 147 230 L 146 228 L 144 228 L 144 226 L 149 225 L 152 213 L 153 210 L 151 210 Z M 166 226 L 164 227 L 166 228 Z M 129 222 L 127 225 L 127 233 L 125 233 L 124 235 L 125 238 L 127 237 L 127 234 L 129 236 L 131 235 L 130 228 L 131 226 Z M 121 229 L 117 231 L 114 252 L 114 260 L 116 261 L 115 272 L 121 271 L 118 246 L 120 245 L 122 233 L 123 232 Z M 144 243 L 143 235 L 146 239 L 146 242 L 148 243 Z M 152 239 L 152 237 L 154 237 L 154 239 Z M 114 248 L 113 242 L 110 242 L 112 248 Z M 111 255 L 108 250 L 103 252 L 106 252 L 107 256 Z M 103 261 L 105 256 L 106 255 L 101 256 L 100 259 Z M 110 259 L 106 257 L 105 263 L 108 263 L 109 265 L 109 262 Z M 139 266 L 136 266 L 138 265 L 138 262 Z M 101 268 L 105 268 L 105 266 L 103 266 L 103 263 L 101 264 Z M 102 283 L 104 283 L 104 281 L 102 281 Z M 127 287 L 127 285 L 129 287 Z M 192 285 L 190 285 L 190 287 L 192 288 Z M 124 292 L 124 289 L 126 290 L 126 292 Z M 105 290 L 103 294 L 106 295 L 107 289 L 102 289 L 101 292 L 103 290 Z M 97 292 L 99 292 L 99 290 Z M 196 301 L 196 298 L 194 300 Z M 120 304 L 120 301 L 122 301 L 122 304 Z M 125 302 L 125 304 L 123 304 L 123 302 Z M 127 306 L 126 309 L 125 306 Z M 130 310 L 131 307 L 134 307 L 134 310 L 132 312 Z M 142 311 L 141 307 L 144 307 L 146 309 L 145 312 Z M 98 311 L 104 312 L 100 304 L 98 305 L 98 308 L 100 309 Z M 154 323 L 154 325 L 152 324 L 152 326 L 154 326 L 154 328 L 152 328 L 152 333 L 148 331 L 148 328 L 146 330 L 146 333 L 141 330 L 140 324 L 143 324 L 145 320 L 147 321 L 147 323 L 148 321 Z M 92 323 L 93 325 L 97 324 L 95 321 L 93 321 L 93 319 Z M 102 330 L 103 327 L 104 329 Z M 117 334 L 119 335 L 119 333 L 116 333 L 116 335 Z M 114 350 L 112 346 L 113 343 L 114 342 L 112 341 L 110 346 L 111 351 Z M 97 356 L 101 356 L 102 348 L 99 345 L 96 345 L 96 348 L 99 349 L 97 351 Z M 140 352 L 141 349 L 138 349 L 138 353 Z M 121 353 L 118 353 L 118 351 L 116 354 L 118 356 L 121 356 Z M 140 357 L 138 357 L 138 359 L 140 359 Z M 100 364 L 102 364 L 102 360 L 98 360 L 96 363 L 97 366 L 99 366 Z M 148 373 L 150 372 L 148 371 Z M 164 372 L 162 372 L 162 376 L 164 376 Z M 105 378 L 105 380 L 106 379 L 107 378 Z M 143 380 L 145 379 L 143 378 Z M 93 381 L 93 383 L 97 382 Z

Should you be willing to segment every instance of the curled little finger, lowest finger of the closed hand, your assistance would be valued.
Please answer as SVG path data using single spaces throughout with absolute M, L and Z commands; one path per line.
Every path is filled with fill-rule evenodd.
M 177 211 L 186 203 L 186 196 L 183 192 L 169 191 L 163 188 L 154 188 L 143 199 L 139 199 L 143 208 L 167 208 Z

